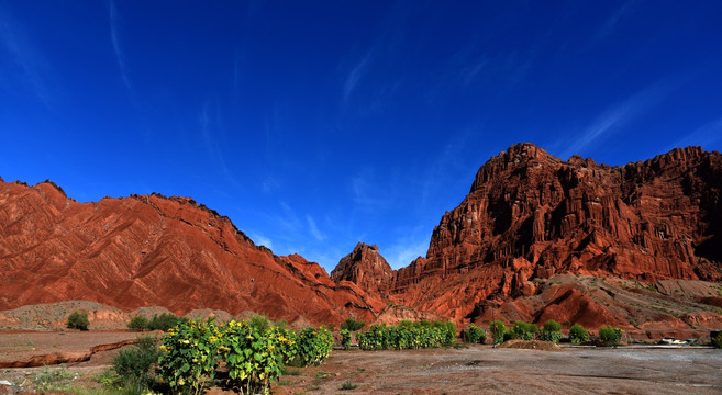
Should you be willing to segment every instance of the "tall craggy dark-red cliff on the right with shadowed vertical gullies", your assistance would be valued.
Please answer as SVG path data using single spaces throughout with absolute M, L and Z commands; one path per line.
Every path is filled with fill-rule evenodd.
M 393 298 L 462 318 L 555 273 L 719 281 L 721 193 L 722 155 L 699 147 L 610 167 L 518 144 L 479 169 Z

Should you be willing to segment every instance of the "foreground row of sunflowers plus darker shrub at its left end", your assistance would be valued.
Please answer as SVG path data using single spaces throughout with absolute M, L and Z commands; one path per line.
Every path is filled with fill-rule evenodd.
M 227 324 L 184 320 L 168 329 L 157 349 L 152 340 L 142 340 L 122 350 L 113 365 L 126 384 L 163 393 L 201 394 L 221 385 L 267 394 L 285 365 L 318 365 L 332 347 L 333 335 L 325 327 L 297 332 L 265 317 Z M 227 370 L 223 376 L 221 365 Z

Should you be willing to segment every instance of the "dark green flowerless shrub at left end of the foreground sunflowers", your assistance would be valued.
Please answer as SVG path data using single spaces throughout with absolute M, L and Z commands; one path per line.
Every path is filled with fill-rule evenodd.
M 123 384 L 132 385 L 138 391 L 149 390 L 156 383 L 153 364 L 160 357 L 155 339 L 141 337 L 135 339 L 135 346 L 129 350 L 120 350 L 113 359 L 113 369 Z

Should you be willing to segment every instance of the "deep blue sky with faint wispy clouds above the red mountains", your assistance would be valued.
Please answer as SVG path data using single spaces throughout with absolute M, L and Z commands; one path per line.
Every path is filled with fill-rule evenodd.
M 722 150 L 720 1 L 0 0 L 0 177 L 192 196 L 278 255 L 395 267 L 519 142 Z

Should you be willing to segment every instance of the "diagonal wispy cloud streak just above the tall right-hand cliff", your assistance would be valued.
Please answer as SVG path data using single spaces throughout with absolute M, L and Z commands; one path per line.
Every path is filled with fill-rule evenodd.
M 644 112 L 664 100 L 671 86 L 667 82 L 655 83 L 637 92 L 625 101 L 614 104 L 607 109 L 593 122 L 579 134 L 571 145 L 562 154 L 562 158 L 569 158 L 571 155 L 580 154 L 587 146 L 598 140 L 604 135 L 614 133 L 622 128 Z M 568 137 L 566 137 L 568 140 Z

